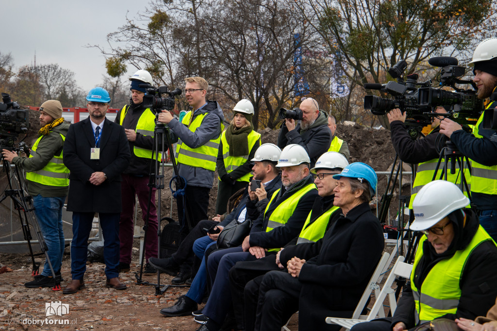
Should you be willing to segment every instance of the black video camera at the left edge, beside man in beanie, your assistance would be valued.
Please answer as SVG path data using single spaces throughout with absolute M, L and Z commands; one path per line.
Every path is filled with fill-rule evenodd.
M 0 102 L 0 151 L 11 151 L 21 132 L 25 135 L 29 128 L 29 110 L 20 109 L 17 102 L 12 102 L 10 95 L 1 93 Z

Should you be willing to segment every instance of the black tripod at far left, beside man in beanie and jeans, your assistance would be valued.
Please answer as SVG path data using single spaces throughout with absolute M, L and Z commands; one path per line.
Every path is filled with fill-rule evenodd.
M 3 171 L 5 171 L 7 175 L 9 188 L 3 192 L 3 195 L 0 198 L 0 203 L 7 197 L 10 197 L 14 204 L 14 208 L 17 210 L 19 221 L 21 222 L 22 234 L 24 236 L 24 240 L 28 243 L 29 254 L 33 263 L 33 271 L 31 274 L 33 276 L 39 274 L 40 262 L 35 262 L 34 260 L 33 248 L 31 247 L 31 240 L 33 240 L 33 237 L 31 236 L 29 224 L 31 224 L 34 229 L 36 238 L 38 239 L 38 244 L 40 245 L 41 251 L 45 253 L 47 263 L 50 267 L 52 279 L 54 281 L 52 290 L 60 291 L 60 279 L 55 276 L 54 268 L 52 266 L 52 263 L 50 262 L 50 258 L 48 256 L 48 247 L 41 233 L 36 214 L 34 213 L 33 199 L 31 198 L 31 195 L 27 193 L 23 174 L 21 173 L 21 171 L 19 171 L 19 168 L 16 165 L 14 166 L 14 169 L 15 170 L 12 169 L 8 161 L 3 160 Z M 23 215 L 21 214 L 21 211 L 23 212 Z

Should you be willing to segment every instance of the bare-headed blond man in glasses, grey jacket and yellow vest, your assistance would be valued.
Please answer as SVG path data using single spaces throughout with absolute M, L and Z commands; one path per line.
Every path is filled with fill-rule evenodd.
M 177 141 L 175 157 L 179 176 L 186 181 L 184 195 L 176 199 L 181 238 L 190 227 L 207 220 L 209 193 L 214 183 L 214 170 L 219 152 L 221 133 L 224 130 L 224 114 L 217 101 L 206 100 L 207 82 L 201 77 L 185 79 L 183 92 L 193 108 L 179 122 L 167 110 L 158 120 L 171 129 L 172 142 Z M 186 220 L 187 211 L 188 220 Z M 180 267 L 176 283 L 185 283 L 191 276 L 193 257 Z

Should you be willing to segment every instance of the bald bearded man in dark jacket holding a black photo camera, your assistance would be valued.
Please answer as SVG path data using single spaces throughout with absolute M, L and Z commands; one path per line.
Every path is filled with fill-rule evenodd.
M 297 124 L 294 119 L 287 118 L 278 136 L 278 147 L 298 144 L 306 150 L 311 159 L 311 167 L 316 160 L 328 152 L 331 143 L 331 131 L 328 128 L 328 115 L 319 110 L 318 102 L 313 98 L 302 98 L 300 103 L 302 120 Z

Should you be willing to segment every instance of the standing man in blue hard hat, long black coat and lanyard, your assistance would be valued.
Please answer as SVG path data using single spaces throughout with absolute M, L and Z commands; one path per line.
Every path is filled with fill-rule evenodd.
M 89 117 L 69 127 L 64 143 L 64 164 L 71 171 L 67 209 L 73 212 L 73 279 L 64 294 L 76 293 L 84 287 L 88 237 L 95 213 L 105 238 L 105 285 L 126 289 L 119 281 L 119 216 L 121 173 L 129 165 L 129 144 L 124 128 L 105 118 L 109 93 L 95 87 L 88 92 L 86 100 Z

